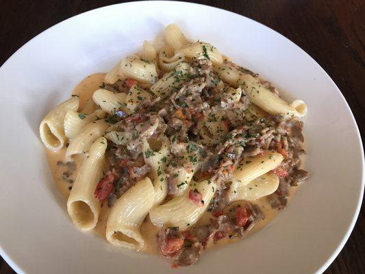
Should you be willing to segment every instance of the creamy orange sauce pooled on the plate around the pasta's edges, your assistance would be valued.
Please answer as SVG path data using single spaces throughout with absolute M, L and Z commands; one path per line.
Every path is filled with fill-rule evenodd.
M 95 92 L 99 88 L 99 86 L 102 84 L 104 79 L 105 73 L 95 73 L 92 74 L 85 79 L 83 79 L 76 87 L 75 90 L 73 90 L 73 95 L 79 95 L 80 99 L 80 110 L 85 113 L 92 112 L 95 108 L 95 105 L 92 102 L 92 93 Z M 60 190 L 62 195 L 65 198 L 65 206 L 66 206 L 66 199 L 68 198 L 68 195 L 70 194 L 70 187 L 72 187 L 73 184 L 67 182 L 62 178 L 62 173 L 67 171 L 67 167 L 58 164 L 59 161 L 64 162 L 64 154 L 66 153 L 66 147 L 64 147 L 61 151 L 53 152 L 46 149 L 47 153 L 47 160 L 49 164 L 49 168 L 51 169 L 53 180 L 57 186 L 57 188 Z M 75 182 L 75 178 L 77 175 L 77 170 L 79 169 L 80 164 L 82 163 L 83 155 L 77 155 L 75 157 L 75 164 L 76 164 L 76 171 L 73 171 L 70 173 L 69 177 L 67 179 L 72 179 Z M 294 194 L 295 190 L 297 190 L 297 187 L 291 187 L 290 190 L 290 196 Z M 290 199 L 290 197 L 289 197 Z M 278 210 L 274 210 L 271 208 L 270 203 L 266 200 L 266 197 L 262 197 L 260 199 L 257 199 L 255 201 L 251 201 L 251 203 L 257 204 L 257 206 L 260 206 L 262 212 L 264 213 L 265 219 L 263 221 L 257 222 L 255 227 L 251 229 L 251 231 L 247 234 L 247 236 L 257 232 L 258 230 L 262 229 L 264 226 L 266 226 L 268 223 L 270 223 L 271 220 L 275 218 L 275 216 L 278 214 Z M 234 204 L 238 204 L 237 202 Z M 101 212 L 99 215 L 99 221 L 97 223 L 97 227 L 93 229 L 93 232 L 105 239 L 105 228 L 108 221 L 108 215 L 110 213 L 111 208 L 108 208 L 108 201 L 103 201 L 101 206 Z M 205 214 L 201 217 L 201 219 L 198 221 L 196 225 L 205 225 L 209 223 L 209 219 L 211 218 L 210 212 L 205 212 Z M 70 219 L 71 221 L 71 219 Z M 149 217 L 147 216 L 146 220 L 144 221 L 142 225 L 142 236 L 144 237 L 144 248 L 142 251 L 146 253 L 158 253 L 158 247 L 156 245 L 155 235 L 158 233 L 158 228 L 155 227 L 151 221 L 149 221 Z M 247 238 L 245 236 L 245 238 Z M 105 239 L 106 240 L 106 239 Z M 237 242 L 240 240 L 239 238 L 223 238 L 222 240 L 219 240 L 216 243 L 210 243 L 208 245 L 208 249 L 215 246 L 215 245 L 225 245 L 230 242 Z

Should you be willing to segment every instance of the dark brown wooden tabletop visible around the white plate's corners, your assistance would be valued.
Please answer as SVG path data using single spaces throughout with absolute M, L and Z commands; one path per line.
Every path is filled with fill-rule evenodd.
M 0 0 L 0 65 L 25 42 L 52 25 L 81 12 L 121 2 Z M 340 88 L 365 136 L 365 0 L 194 2 L 253 18 L 299 45 Z M 364 208 L 363 204 L 347 244 L 325 273 L 365 273 Z M 0 257 L 0 274 L 10 273 L 15 272 Z

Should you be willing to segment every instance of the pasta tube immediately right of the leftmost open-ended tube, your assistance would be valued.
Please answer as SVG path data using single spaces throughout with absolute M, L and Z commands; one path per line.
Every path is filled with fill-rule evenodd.
M 103 110 L 95 110 L 91 114 L 82 114 L 75 110 L 68 110 L 64 116 L 64 134 L 68 139 L 73 139 L 79 134 L 81 129 L 88 123 L 103 119 L 105 112 Z

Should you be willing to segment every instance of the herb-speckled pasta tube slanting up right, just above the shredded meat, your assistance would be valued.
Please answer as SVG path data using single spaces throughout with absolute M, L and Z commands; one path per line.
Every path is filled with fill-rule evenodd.
M 179 90 L 181 84 L 188 79 L 189 69 L 190 64 L 180 62 L 173 71 L 166 73 L 158 82 L 151 86 L 151 92 L 156 97 L 166 97 L 171 92 Z

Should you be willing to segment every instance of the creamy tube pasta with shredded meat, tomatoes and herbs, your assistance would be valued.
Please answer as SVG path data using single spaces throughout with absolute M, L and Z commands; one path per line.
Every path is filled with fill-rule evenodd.
M 86 77 L 40 123 L 73 224 L 174 268 L 284 209 L 307 106 L 168 25 L 164 44 Z

